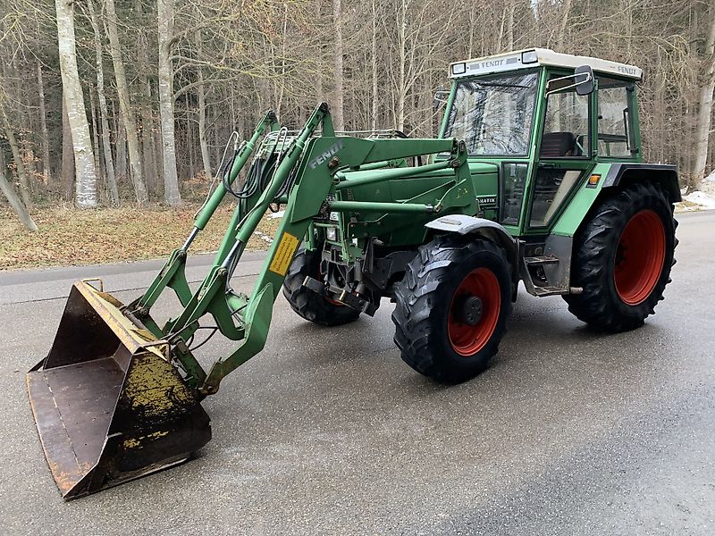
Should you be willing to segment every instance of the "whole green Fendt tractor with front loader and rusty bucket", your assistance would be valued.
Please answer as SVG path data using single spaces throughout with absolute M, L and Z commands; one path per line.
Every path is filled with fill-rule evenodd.
M 452 63 L 437 139 L 335 132 L 325 104 L 298 131 L 265 113 L 142 296 L 124 305 L 101 282 L 73 286 L 53 347 L 27 376 L 63 497 L 206 444 L 200 401 L 264 348 L 281 291 L 324 326 L 389 297 L 402 358 L 450 383 L 497 353 L 519 281 L 601 330 L 642 325 L 669 282 L 680 190 L 675 167 L 643 163 L 641 76 L 539 48 Z M 231 223 L 191 289 L 189 247 L 225 197 Z M 263 269 L 250 295 L 236 292 L 231 274 L 274 205 L 285 209 Z M 166 289 L 181 313 L 159 322 L 151 309 Z M 199 330 L 236 348 L 205 368 Z

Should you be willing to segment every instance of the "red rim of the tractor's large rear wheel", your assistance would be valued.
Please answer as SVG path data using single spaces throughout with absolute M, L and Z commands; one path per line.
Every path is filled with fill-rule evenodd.
M 658 214 L 642 210 L 627 223 L 618 240 L 616 291 L 624 303 L 637 306 L 651 295 L 665 260 L 665 228 Z

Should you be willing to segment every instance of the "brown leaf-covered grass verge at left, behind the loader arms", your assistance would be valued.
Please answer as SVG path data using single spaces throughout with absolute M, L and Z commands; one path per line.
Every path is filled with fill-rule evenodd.
M 0 270 L 41 266 L 80 266 L 167 257 L 189 236 L 198 204 L 179 209 L 161 205 L 77 210 L 67 206 L 35 207 L 37 232 L 25 230 L 17 216 L 0 207 Z M 233 205 L 219 206 L 206 230 L 198 233 L 192 253 L 215 251 L 231 220 Z M 258 230 L 273 237 L 280 220 L 265 217 Z M 248 249 L 268 243 L 252 237 Z

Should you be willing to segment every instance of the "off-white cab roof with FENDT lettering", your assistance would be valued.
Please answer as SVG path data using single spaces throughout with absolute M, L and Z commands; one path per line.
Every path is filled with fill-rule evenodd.
M 492 72 L 517 71 L 539 65 L 566 67 L 568 69 L 575 69 L 579 65 L 590 65 L 593 71 L 605 74 L 613 74 L 632 80 L 641 80 L 643 78 L 643 70 L 635 67 L 635 65 L 611 62 L 610 60 L 601 60 L 589 56 L 561 54 L 549 48 L 526 48 L 504 54 L 450 63 L 450 78 L 463 78 Z

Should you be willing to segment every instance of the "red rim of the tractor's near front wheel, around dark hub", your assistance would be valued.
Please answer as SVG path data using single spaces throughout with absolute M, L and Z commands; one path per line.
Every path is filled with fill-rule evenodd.
M 456 304 L 461 297 L 475 296 L 482 300 L 482 316 L 475 325 L 459 321 Z M 447 331 L 450 345 L 459 356 L 473 356 L 484 348 L 497 327 L 501 309 L 501 289 L 499 280 L 487 268 L 477 268 L 469 272 L 459 283 L 450 303 L 450 317 Z

